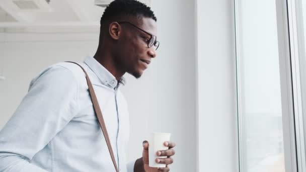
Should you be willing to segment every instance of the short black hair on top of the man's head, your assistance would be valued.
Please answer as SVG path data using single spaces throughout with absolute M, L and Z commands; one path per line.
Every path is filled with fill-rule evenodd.
M 147 17 L 157 21 L 154 12 L 145 4 L 135 0 L 115 0 L 106 7 L 100 24 L 102 26 L 104 22 L 121 16 Z

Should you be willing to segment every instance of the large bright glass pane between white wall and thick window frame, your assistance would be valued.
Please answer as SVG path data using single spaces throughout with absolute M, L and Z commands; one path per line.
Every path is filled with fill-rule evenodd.
M 283 172 L 275 1 L 239 1 L 243 172 Z

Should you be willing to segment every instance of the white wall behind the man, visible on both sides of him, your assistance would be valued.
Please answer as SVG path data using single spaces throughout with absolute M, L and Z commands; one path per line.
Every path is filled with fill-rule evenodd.
M 123 88 L 131 124 L 128 159 L 141 156 L 149 132 L 170 132 L 177 142 L 171 171 L 196 171 L 194 1 L 155 0 L 152 9 L 158 18 L 158 57 L 140 79 L 127 75 Z M 32 77 L 50 64 L 93 55 L 96 36 L 0 35 L 0 68 L 7 77 L 0 81 L 0 127 L 27 93 Z

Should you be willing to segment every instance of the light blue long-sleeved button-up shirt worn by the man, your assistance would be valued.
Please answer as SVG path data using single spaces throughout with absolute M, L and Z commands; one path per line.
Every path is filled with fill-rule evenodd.
M 129 116 L 116 78 L 93 57 L 81 65 L 93 83 L 116 163 L 127 163 Z M 14 93 L 13 93 L 14 94 Z M 115 171 L 80 66 L 62 62 L 42 71 L 0 132 L 0 171 Z

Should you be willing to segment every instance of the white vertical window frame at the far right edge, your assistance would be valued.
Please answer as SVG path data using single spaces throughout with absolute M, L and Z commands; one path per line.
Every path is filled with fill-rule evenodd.
M 286 32 L 289 33 L 288 40 L 291 59 L 291 75 L 292 75 L 292 93 L 293 93 L 293 110 L 294 110 L 294 125 L 296 138 L 296 166 L 297 171 L 306 172 L 306 154 L 305 154 L 305 126 L 306 119 L 304 118 L 303 110 L 306 106 L 306 88 L 305 86 L 305 44 L 303 33 L 303 18 L 302 18 L 302 2 L 300 0 L 283 0 L 282 3 L 287 9 L 287 23 L 285 23 Z M 302 21 L 302 22 L 301 22 Z

